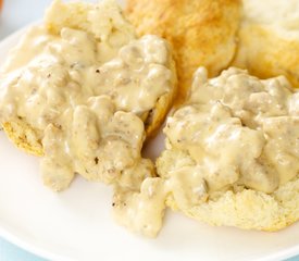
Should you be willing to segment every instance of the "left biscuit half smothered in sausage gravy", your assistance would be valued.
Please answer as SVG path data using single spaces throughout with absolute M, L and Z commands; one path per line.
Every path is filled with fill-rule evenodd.
M 134 187 L 154 175 L 140 151 L 175 84 L 167 44 L 136 38 L 114 1 L 55 0 L 2 67 L 0 122 L 17 147 L 42 156 L 43 182 L 54 190 L 76 173 Z

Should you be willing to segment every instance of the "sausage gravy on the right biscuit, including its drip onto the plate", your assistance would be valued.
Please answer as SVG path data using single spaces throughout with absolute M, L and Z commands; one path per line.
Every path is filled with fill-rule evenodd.
M 169 200 L 188 211 L 228 189 L 271 194 L 299 173 L 299 96 L 284 77 L 260 80 L 229 69 L 208 79 L 199 69 L 187 104 L 164 133 L 160 177 L 114 199 L 121 223 L 150 236 Z

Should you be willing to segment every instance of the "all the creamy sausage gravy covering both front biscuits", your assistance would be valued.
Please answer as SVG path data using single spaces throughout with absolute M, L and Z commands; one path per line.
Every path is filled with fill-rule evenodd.
M 47 23 L 63 21 L 51 22 L 58 7 L 67 13 L 61 4 Z M 36 130 L 46 185 L 62 190 L 76 173 L 112 184 L 116 221 L 155 236 L 167 199 L 184 210 L 227 189 L 271 194 L 298 174 L 299 96 L 285 78 L 229 69 L 208 79 L 199 69 L 188 104 L 167 120 L 170 166 L 155 177 L 140 153 L 142 120 L 171 91 L 167 46 L 128 36 L 113 2 L 96 10 L 83 15 L 84 28 L 32 28 L 2 67 L 0 122 L 22 120 Z

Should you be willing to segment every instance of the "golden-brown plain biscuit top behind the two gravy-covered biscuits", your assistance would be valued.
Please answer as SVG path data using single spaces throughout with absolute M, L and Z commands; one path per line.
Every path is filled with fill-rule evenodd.
M 154 34 L 170 41 L 183 101 L 200 65 L 210 76 L 228 66 L 236 52 L 239 0 L 127 0 L 126 14 L 138 35 Z

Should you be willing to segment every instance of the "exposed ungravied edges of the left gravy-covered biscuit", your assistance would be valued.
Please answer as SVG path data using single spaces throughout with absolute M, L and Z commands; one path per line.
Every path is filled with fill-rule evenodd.
M 117 51 L 122 46 L 125 46 L 135 39 L 135 33 L 129 22 L 127 22 L 122 16 L 121 9 L 115 4 L 114 1 L 108 0 L 99 4 L 100 7 L 85 2 L 63 3 L 60 0 L 55 0 L 46 13 L 46 29 L 33 28 L 28 32 L 26 40 L 28 40 L 29 37 L 35 37 L 35 32 L 42 33 L 43 30 L 49 34 L 49 37 L 57 37 L 61 34 L 61 30 L 64 27 L 87 32 L 88 34 L 92 35 L 92 37 L 95 37 L 99 42 L 111 40 L 113 39 L 113 35 L 117 34 L 117 39 L 121 39 L 121 41 L 111 44 L 111 46 L 113 46 L 115 49 L 115 52 L 112 51 L 112 58 L 105 58 L 108 61 L 110 61 L 117 55 Z M 108 17 L 109 12 L 113 17 L 111 20 Z M 103 15 L 104 18 L 101 20 L 101 15 Z M 17 48 L 11 52 L 9 62 L 4 65 L 4 73 L 5 70 L 8 72 L 12 71 L 14 69 L 13 65 L 18 63 L 17 58 L 22 54 L 22 45 L 23 41 L 21 41 Z M 39 51 L 42 51 L 42 47 Z M 159 97 L 157 100 L 155 104 L 149 111 L 139 115 L 140 119 L 145 122 L 145 128 L 148 138 L 152 137 L 157 129 L 161 126 L 176 95 L 177 79 L 175 64 L 170 54 L 171 50 L 167 51 L 170 55 L 167 66 L 171 71 L 171 88 L 163 91 L 161 97 Z M 30 62 L 29 58 L 26 60 L 26 62 Z M 24 61 L 20 64 L 20 66 L 24 66 L 25 64 L 26 63 Z M 26 123 L 26 121 L 14 120 L 12 122 L 5 122 L 3 123 L 3 129 L 18 148 L 35 156 L 43 154 L 41 137 L 36 137 L 37 135 L 35 135 L 35 133 L 40 130 L 33 128 L 28 123 Z

